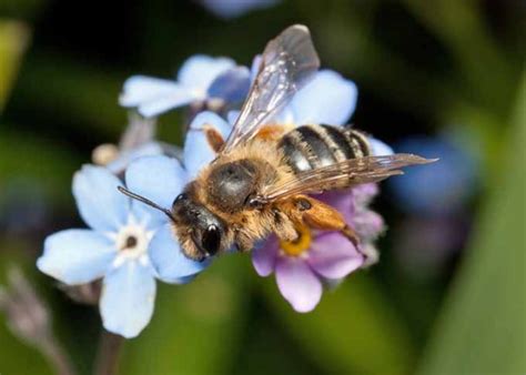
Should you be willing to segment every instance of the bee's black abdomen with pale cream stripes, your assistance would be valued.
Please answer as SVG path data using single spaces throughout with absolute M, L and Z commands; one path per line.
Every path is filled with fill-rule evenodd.
M 286 133 L 279 148 L 294 172 L 308 171 L 363 158 L 371 153 L 360 131 L 331 125 L 303 125 Z

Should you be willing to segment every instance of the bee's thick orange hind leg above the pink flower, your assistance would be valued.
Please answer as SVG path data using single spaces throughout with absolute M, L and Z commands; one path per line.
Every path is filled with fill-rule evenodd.
M 358 249 L 360 236 L 334 207 L 306 195 L 295 196 L 294 206 L 296 217 L 300 216 L 308 226 L 323 231 L 340 231 Z

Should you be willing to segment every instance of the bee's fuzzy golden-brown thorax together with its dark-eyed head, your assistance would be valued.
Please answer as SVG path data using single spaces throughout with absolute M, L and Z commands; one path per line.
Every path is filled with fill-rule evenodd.
M 205 166 L 172 207 L 174 232 L 185 254 L 199 260 L 232 246 L 250 250 L 269 235 L 275 214 L 250 201 L 287 173 L 274 141 L 254 140 Z

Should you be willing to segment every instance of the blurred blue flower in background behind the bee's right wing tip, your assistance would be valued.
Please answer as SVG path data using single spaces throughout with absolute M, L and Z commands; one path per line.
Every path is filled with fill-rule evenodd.
M 475 191 L 478 173 L 477 160 L 467 148 L 439 135 L 411 136 L 399 142 L 396 149 L 439 159 L 426 168 L 408 169 L 404 179 L 388 181 L 394 201 L 401 209 L 431 215 L 462 210 Z

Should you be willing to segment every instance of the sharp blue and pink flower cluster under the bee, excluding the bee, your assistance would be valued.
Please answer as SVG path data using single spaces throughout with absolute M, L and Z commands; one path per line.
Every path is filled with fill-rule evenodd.
M 121 142 L 127 148 L 100 149 L 97 160 L 103 165 L 84 165 L 73 178 L 77 206 L 89 229 L 50 235 L 37 263 L 39 270 L 67 285 L 101 280 L 99 307 L 108 331 L 136 336 L 151 320 L 155 280 L 183 284 L 210 263 L 185 257 L 168 216 L 132 201 L 117 188 L 125 185 L 170 207 L 185 184 L 215 158 L 203 129 L 212 126 L 227 138 L 236 112 L 222 115 L 243 101 L 250 81 L 250 70 L 230 59 L 196 55 L 184 62 L 174 81 L 136 75 L 124 83 L 121 105 L 143 118 L 153 119 L 178 107 L 198 109 L 184 146 L 180 151 L 152 139 L 153 120 L 132 122 L 125 136 L 129 140 L 133 132 L 142 134 L 139 141 Z M 286 129 L 322 123 L 341 126 L 350 120 L 356 98 L 352 81 L 323 70 L 269 123 Z M 371 144 L 374 154 L 392 153 L 377 140 L 371 139 Z M 112 152 L 104 153 L 107 150 Z M 383 221 L 368 207 L 376 193 L 377 186 L 368 184 L 317 196 L 342 212 L 358 234 L 358 245 L 336 232 L 302 227 L 294 242 L 271 236 L 254 249 L 252 261 L 257 274 L 275 273 L 280 292 L 294 310 L 313 310 L 324 284 L 376 261 L 373 242 L 383 231 Z

